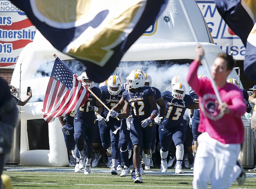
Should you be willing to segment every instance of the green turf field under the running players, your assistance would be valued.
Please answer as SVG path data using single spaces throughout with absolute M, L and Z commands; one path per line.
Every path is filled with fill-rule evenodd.
M 74 173 L 74 168 L 68 167 L 23 167 L 6 166 L 8 175 L 12 179 L 14 189 L 164 189 L 180 188 L 192 189 L 193 171 L 183 169 L 184 174 L 174 174 L 175 170 L 168 169 L 166 174 L 159 169 L 144 171 L 142 175 L 142 184 L 134 184 L 131 176 L 120 177 L 111 175 L 110 169 L 92 168 L 91 175 L 84 173 Z M 210 187 L 210 185 L 209 185 Z M 244 185 L 237 185 L 236 182 L 230 187 L 236 189 L 256 189 L 256 172 L 246 171 L 246 180 Z

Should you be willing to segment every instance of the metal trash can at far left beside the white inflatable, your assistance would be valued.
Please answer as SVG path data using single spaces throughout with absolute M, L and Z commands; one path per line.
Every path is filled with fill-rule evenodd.
M 18 117 L 17 126 L 13 132 L 12 149 L 9 155 L 6 157 L 6 164 L 19 164 L 20 163 L 20 113 Z

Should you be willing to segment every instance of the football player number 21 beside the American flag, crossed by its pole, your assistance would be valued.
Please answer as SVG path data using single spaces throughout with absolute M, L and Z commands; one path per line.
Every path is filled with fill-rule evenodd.
M 83 72 L 79 79 L 83 85 L 86 85 L 91 91 L 101 98 L 102 94 L 98 87 L 94 87 L 94 82 L 89 80 L 86 72 Z M 76 146 L 79 151 L 79 169 L 82 170 L 85 166 L 84 174 L 91 173 L 91 160 L 92 160 L 92 143 L 95 136 L 96 119 L 95 113 L 102 112 L 102 105 L 95 98 L 92 93 L 89 94 L 88 100 L 77 109 L 76 116 L 74 118 L 74 130 L 76 135 Z M 86 159 L 84 155 L 84 141 L 86 146 Z M 86 161 L 85 161 L 86 160 Z

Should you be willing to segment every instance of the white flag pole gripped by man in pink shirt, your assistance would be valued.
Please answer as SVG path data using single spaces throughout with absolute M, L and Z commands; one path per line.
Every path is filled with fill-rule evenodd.
M 189 17 L 188 17 L 188 13 L 187 13 L 187 11 L 186 11 L 186 9 L 185 9 L 185 6 L 184 6 L 182 0 L 180 0 L 180 5 L 181 5 L 181 7 L 182 7 L 182 9 L 183 9 L 183 12 L 184 12 L 184 15 L 185 15 L 185 17 L 186 17 L 186 19 L 187 19 L 187 21 L 188 21 L 188 25 L 189 25 L 189 27 L 191 28 L 191 32 L 192 32 L 192 34 L 193 34 L 193 37 L 194 37 L 195 41 L 198 43 L 198 45 L 199 45 L 199 41 L 198 41 L 198 39 L 197 39 L 197 36 L 196 36 L 195 31 L 194 31 L 193 25 L 192 25 L 192 23 L 191 23 L 191 21 L 190 21 L 190 19 L 189 19 Z M 214 92 L 215 92 L 215 95 L 216 95 L 216 97 L 217 97 L 217 100 L 218 100 L 219 104 L 222 104 L 222 100 L 221 100 L 221 98 L 220 98 L 219 91 L 218 91 L 218 89 L 217 89 L 216 83 L 214 82 L 214 80 L 213 80 L 213 78 L 212 78 L 212 74 L 211 74 L 210 68 L 209 68 L 208 63 L 207 63 L 207 60 L 204 58 L 204 56 L 202 56 L 202 61 L 201 61 L 201 62 L 202 62 L 202 64 L 203 64 L 204 68 L 206 69 L 206 72 L 207 72 L 207 74 L 208 74 L 208 76 L 209 76 L 209 78 L 210 78 L 210 81 L 211 81 L 211 83 L 212 83 L 212 88 L 213 88 L 213 90 L 214 90 Z

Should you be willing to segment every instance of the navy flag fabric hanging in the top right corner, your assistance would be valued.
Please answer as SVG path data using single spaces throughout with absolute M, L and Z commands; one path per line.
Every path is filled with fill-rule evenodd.
M 220 16 L 246 47 L 244 73 L 256 80 L 256 0 L 214 0 Z M 254 26 L 253 26 L 254 25 Z

